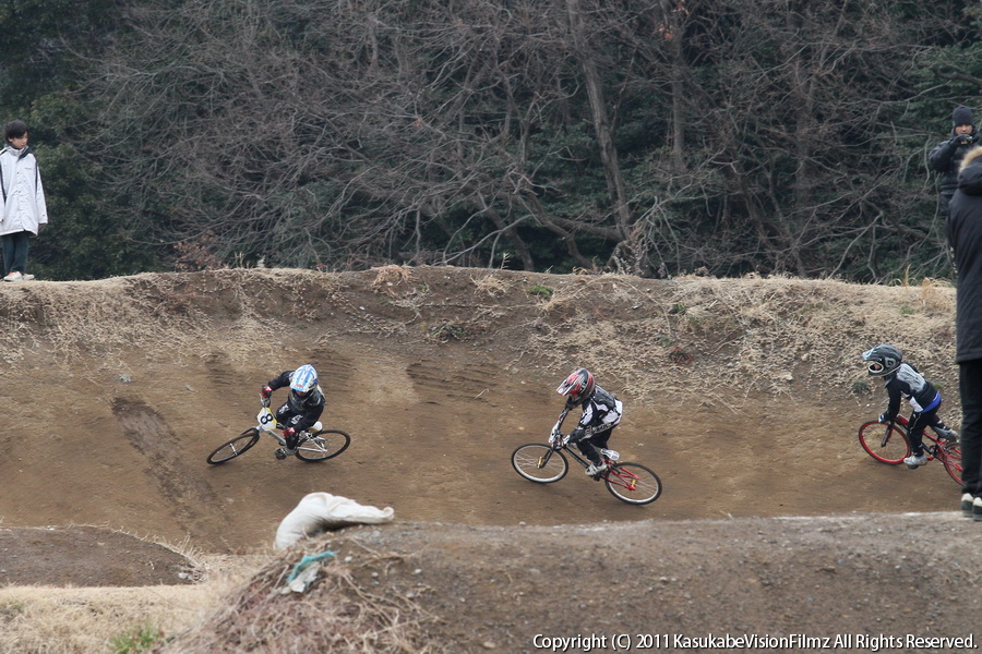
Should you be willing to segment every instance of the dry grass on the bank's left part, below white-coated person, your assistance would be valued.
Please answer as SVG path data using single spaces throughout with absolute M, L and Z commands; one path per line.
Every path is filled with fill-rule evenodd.
M 0 350 L 8 363 L 49 351 L 64 365 L 125 372 L 133 350 L 176 362 L 206 355 L 220 323 L 227 353 L 246 358 L 268 349 L 280 320 L 313 319 L 338 288 L 336 276 L 282 269 L 23 284 L 0 292 Z

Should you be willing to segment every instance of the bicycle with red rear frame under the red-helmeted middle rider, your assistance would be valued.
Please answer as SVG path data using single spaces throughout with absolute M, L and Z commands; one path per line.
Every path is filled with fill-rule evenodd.
M 560 414 L 559 422 L 552 427 L 549 443 L 529 443 L 512 452 L 512 467 L 515 472 L 537 484 L 558 482 L 570 471 L 566 455 L 587 468 L 590 462 L 570 448 L 570 435 L 560 433 L 560 427 L 570 410 Z M 651 504 L 661 495 L 661 480 L 648 468 L 639 463 L 620 463 L 620 455 L 614 450 L 600 450 L 600 456 L 608 468 L 594 479 L 602 480 L 611 495 L 633 505 Z

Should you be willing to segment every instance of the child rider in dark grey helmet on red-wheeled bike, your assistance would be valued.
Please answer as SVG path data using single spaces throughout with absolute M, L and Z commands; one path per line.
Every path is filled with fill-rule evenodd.
M 874 377 L 883 377 L 884 388 L 889 396 L 887 410 L 879 415 L 879 422 L 893 422 L 900 411 L 900 398 L 910 402 L 912 413 L 907 423 L 910 439 L 910 456 L 903 459 L 910 468 L 927 462 L 924 455 L 924 429 L 931 427 L 945 440 L 955 441 L 958 434 L 949 429 L 937 416 L 941 409 L 941 392 L 924 378 L 918 370 L 903 362 L 903 354 L 894 346 L 881 343 L 863 352 L 866 372 Z

